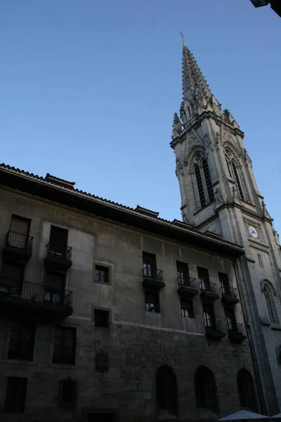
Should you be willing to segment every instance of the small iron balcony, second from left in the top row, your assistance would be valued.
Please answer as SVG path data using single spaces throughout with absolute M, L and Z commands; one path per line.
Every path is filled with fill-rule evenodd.
M 48 243 L 45 267 L 54 271 L 67 271 L 72 266 L 72 248 L 66 246 L 63 250 Z

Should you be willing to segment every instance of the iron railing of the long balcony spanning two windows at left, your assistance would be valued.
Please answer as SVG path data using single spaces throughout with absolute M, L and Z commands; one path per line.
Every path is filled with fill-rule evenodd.
M 42 284 L 27 283 L 1 277 L 0 297 L 6 295 L 22 302 L 32 302 L 35 305 L 72 307 L 72 291 L 48 288 Z

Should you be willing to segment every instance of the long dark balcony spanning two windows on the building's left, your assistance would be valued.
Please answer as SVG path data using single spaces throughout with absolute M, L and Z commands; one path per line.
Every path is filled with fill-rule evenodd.
M 30 314 L 32 318 L 65 319 L 72 315 L 72 291 L 55 290 L 34 283 L 0 279 L 0 312 Z

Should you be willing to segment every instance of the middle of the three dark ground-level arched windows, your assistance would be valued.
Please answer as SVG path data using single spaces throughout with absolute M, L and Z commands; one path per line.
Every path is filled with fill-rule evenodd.
M 218 413 L 216 381 L 207 366 L 200 366 L 197 369 L 194 383 L 197 409 L 209 409 Z

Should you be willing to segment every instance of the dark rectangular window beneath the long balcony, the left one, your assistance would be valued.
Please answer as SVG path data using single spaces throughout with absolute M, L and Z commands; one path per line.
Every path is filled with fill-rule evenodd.
M 8 359 L 32 361 L 34 352 L 35 326 L 32 322 L 13 321 Z

